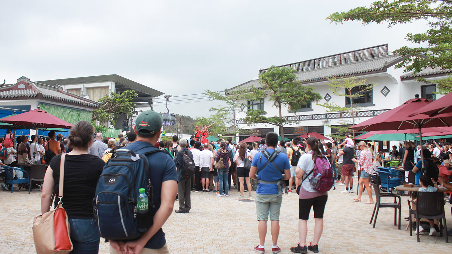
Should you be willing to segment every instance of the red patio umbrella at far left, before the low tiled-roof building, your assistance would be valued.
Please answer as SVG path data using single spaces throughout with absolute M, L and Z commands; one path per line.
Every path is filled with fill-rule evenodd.
M 13 115 L 2 118 L 1 122 L 12 125 L 24 125 L 29 126 L 30 129 L 41 128 L 64 128 L 71 129 L 72 124 L 59 119 L 54 115 L 50 115 L 44 110 L 36 109 L 31 110 L 19 115 Z

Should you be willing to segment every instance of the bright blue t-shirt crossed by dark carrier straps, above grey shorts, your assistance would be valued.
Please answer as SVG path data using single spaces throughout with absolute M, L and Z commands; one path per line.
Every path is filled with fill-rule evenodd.
M 267 149 L 267 151 L 271 154 L 275 149 Z M 253 162 L 251 162 L 251 166 L 257 167 L 258 170 L 263 168 L 265 163 L 267 163 L 267 159 L 262 152 L 256 153 L 253 157 Z M 278 168 L 282 171 L 286 169 L 290 169 L 289 158 L 287 158 L 287 154 L 279 153 L 278 157 L 276 157 L 273 162 L 278 165 Z M 282 172 L 275 168 L 273 163 L 268 163 L 267 167 L 261 169 L 257 175 L 257 178 L 263 181 L 278 181 L 282 178 Z M 268 195 L 268 194 L 278 194 L 278 186 L 276 184 L 266 184 L 259 183 L 256 189 L 256 193 L 260 195 Z

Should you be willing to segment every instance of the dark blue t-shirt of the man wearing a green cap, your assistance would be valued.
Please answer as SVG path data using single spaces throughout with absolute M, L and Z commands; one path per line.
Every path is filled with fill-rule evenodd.
M 145 147 L 151 148 L 151 150 L 159 150 L 154 145 L 144 142 L 135 141 L 132 144 L 127 145 L 127 149 L 139 153 L 139 150 Z M 160 208 L 160 194 L 162 191 L 162 182 L 174 180 L 177 182 L 176 166 L 174 161 L 166 153 L 152 153 L 147 156 L 149 161 L 149 177 L 151 178 L 152 187 L 154 190 L 154 204 L 153 215 Z M 144 246 L 149 249 L 160 249 L 166 244 L 165 233 L 160 228 L 157 233 L 147 242 Z

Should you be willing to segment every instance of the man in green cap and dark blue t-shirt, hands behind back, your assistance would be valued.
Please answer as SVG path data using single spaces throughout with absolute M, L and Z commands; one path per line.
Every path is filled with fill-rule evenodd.
M 153 145 L 160 138 L 161 127 L 162 117 L 159 113 L 154 110 L 141 112 L 137 117 L 137 125 L 135 126 L 137 139 L 128 145 L 127 149 L 137 153 L 143 148 L 161 151 Z M 150 251 L 155 251 L 152 253 L 169 253 L 162 226 L 173 212 L 178 180 L 176 167 L 170 156 L 165 153 L 152 153 L 147 155 L 147 159 L 149 161 L 149 175 L 154 191 L 154 224 L 146 233 L 135 240 L 127 242 L 110 240 L 111 254 L 118 254 L 118 252 L 127 253 L 130 251 L 141 253 L 143 249 L 148 249 L 149 253 Z M 165 191 L 162 192 L 162 190 Z

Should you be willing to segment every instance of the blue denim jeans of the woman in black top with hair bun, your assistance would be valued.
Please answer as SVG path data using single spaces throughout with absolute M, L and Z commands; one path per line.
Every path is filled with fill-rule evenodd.
M 69 254 L 98 254 L 99 231 L 92 220 L 69 218 L 71 225 L 71 241 L 74 248 Z

